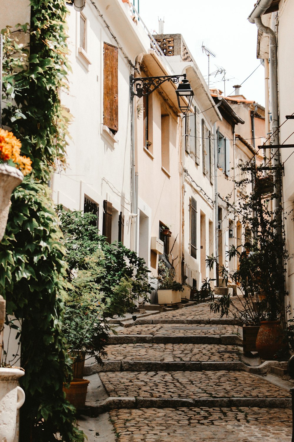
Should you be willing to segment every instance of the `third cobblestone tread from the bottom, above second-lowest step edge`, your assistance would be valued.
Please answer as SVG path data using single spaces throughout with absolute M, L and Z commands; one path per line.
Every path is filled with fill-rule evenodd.
M 106 360 L 115 361 L 240 361 L 238 347 L 208 344 L 121 344 L 106 347 Z

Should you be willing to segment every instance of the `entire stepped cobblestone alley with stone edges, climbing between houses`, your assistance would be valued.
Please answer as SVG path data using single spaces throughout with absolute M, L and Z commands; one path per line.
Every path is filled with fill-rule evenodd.
M 290 442 L 291 383 L 244 357 L 234 319 L 199 304 L 117 323 L 85 368 L 89 442 Z

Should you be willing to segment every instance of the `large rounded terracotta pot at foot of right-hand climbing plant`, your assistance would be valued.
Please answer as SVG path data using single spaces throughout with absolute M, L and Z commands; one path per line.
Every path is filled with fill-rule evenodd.
M 261 321 L 256 339 L 256 350 L 261 359 L 272 360 L 277 351 L 283 348 L 283 329 L 280 321 Z

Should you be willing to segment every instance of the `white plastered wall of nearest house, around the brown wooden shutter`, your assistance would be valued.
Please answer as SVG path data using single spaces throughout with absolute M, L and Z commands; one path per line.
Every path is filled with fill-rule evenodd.
M 119 130 L 113 135 L 103 126 L 103 45 L 118 46 L 91 2 L 82 15 L 86 18 L 86 51 L 79 52 L 80 13 L 69 7 L 69 50 L 72 73 L 69 90 L 61 92 L 63 105 L 73 115 L 67 147 L 67 169 L 52 177 L 52 198 L 68 209 L 83 210 L 85 195 L 99 205 L 102 233 L 103 200 L 113 206 L 112 240 L 118 239 L 118 215 L 125 217 L 124 244 L 130 247 L 130 86 L 131 66 L 144 46 L 136 25 L 119 0 L 108 6 L 96 2 L 123 51 L 118 51 Z M 120 14 L 120 15 L 118 15 Z M 116 21 L 115 21 L 116 20 Z M 123 23 L 124 20 L 124 23 Z M 122 29 L 122 24 L 124 29 Z M 146 42 L 145 42 L 146 43 Z M 117 219 L 116 219 L 117 218 Z

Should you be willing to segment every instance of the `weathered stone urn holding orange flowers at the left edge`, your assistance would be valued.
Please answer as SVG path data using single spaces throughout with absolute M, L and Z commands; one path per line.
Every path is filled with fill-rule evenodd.
M 11 192 L 22 180 L 23 175 L 19 169 L 7 164 L 0 164 L 0 241 L 6 229 Z

